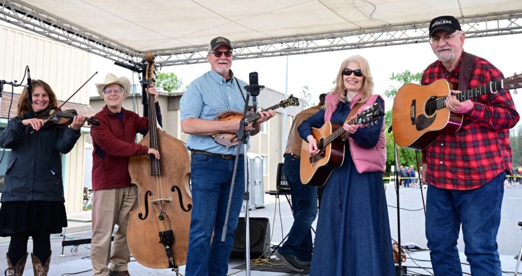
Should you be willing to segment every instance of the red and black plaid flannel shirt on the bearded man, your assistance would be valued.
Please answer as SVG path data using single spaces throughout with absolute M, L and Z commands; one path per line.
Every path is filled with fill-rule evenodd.
M 421 84 L 428 85 L 441 78 L 458 83 L 461 61 L 462 56 L 451 72 L 441 61 L 430 64 L 422 74 Z M 477 57 L 469 89 L 503 78 L 493 64 Z M 509 129 L 520 119 L 511 94 L 501 89 L 471 100 L 473 109 L 470 115 L 464 115 L 461 128 L 456 133 L 441 135 L 422 151 L 422 163 L 428 164 L 426 180 L 437 188 L 476 189 L 502 171 L 511 171 Z

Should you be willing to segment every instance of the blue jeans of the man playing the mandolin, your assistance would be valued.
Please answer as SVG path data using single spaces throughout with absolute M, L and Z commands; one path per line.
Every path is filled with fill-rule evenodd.
M 243 167 L 244 159 L 241 155 L 230 206 L 227 238 L 223 243 L 221 235 L 227 212 L 234 159 L 227 160 L 204 154 L 192 155 L 193 209 L 188 237 L 186 276 L 227 275 L 234 231 L 238 226 L 243 204 L 245 190 Z M 212 243 L 210 243 L 212 234 Z

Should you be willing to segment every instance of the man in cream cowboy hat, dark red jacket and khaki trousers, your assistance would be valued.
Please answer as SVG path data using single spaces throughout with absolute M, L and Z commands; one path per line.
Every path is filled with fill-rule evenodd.
M 131 185 L 128 172 L 130 157 L 153 154 L 156 149 L 135 142 L 136 133 L 145 135 L 149 130 L 147 118 L 122 107 L 123 100 L 131 92 L 131 82 L 126 77 L 108 74 L 105 81 L 96 84 L 98 94 L 106 105 L 96 114 L 100 125 L 91 129 L 92 150 L 92 244 L 91 262 L 94 275 L 127 276 L 127 263 L 131 253 L 127 245 L 129 212 L 137 204 L 137 188 Z M 161 125 L 158 92 L 152 86 L 147 93 L 154 95 L 156 116 Z M 111 235 L 114 234 L 111 252 Z M 109 269 L 107 265 L 111 263 Z

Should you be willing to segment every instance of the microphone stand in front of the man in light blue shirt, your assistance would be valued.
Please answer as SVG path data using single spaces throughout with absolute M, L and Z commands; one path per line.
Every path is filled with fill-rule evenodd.
M 248 90 L 248 89 L 247 89 Z M 234 170 L 232 172 L 232 183 L 230 185 L 230 194 L 229 194 L 229 201 L 227 205 L 227 215 L 225 216 L 225 224 L 223 225 L 223 233 L 221 235 L 221 241 L 224 243 L 224 241 L 227 239 L 227 229 L 228 229 L 228 221 L 229 221 L 229 215 L 230 215 L 230 204 L 232 203 L 232 194 L 234 192 L 234 184 L 235 184 L 235 177 L 236 177 L 236 171 L 238 170 L 238 161 L 241 154 L 241 147 L 243 147 L 243 158 L 244 158 L 244 175 L 245 175 L 245 191 L 243 193 L 243 200 L 245 203 L 245 271 L 246 275 L 250 275 L 250 208 L 249 208 L 249 201 L 250 201 L 250 193 L 248 192 L 248 173 L 247 173 L 247 155 L 246 155 L 246 143 L 248 141 L 248 135 L 250 133 L 248 131 L 245 131 L 245 125 L 248 123 L 245 123 L 245 118 L 250 113 L 250 107 L 248 106 L 248 101 L 250 100 L 250 95 L 253 94 L 253 102 L 255 104 L 255 93 L 252 93 L 250 91 L 246 94 L 245 99 L 245 107 L 243 109 L 243 118 L 241 119 L 239 123 L 239 130 L 238 130 L 238 145 L 236 147 L 237 151 L 235 154 L 235 162 L 234 162 Z M 259 92 L 257 92 L 257 95 L 259 95 Z M 256 95 L 256 96 L 257 96 Z M 256 110 L 256 106 L 254 105 L 254 111 Z

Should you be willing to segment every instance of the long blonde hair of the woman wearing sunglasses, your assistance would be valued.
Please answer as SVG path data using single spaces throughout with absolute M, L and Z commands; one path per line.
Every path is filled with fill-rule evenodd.
M 342 79 L 342 71 L 346 69 L 346 66 L 348 66 L 348 63 L 350 62 L 357 62 L 361 67 L 361 72 L 364 79 L 361 91 L 359 91 L 361 94 L 361 100 L 359 102 L 365 102 L 373 94 L 373 77 L 372 73 L 370 72 L 370 65 L 368 64 L 368 61 L 360 55 L 352 55 L 348 57 L 348 59 L 342 61 L 341 67 L 339 67 L 339 72 L 337 73 L 335 87 L 331 89 L 330 93 L 328 94 L 337 95 L 337 98 L 343 102 L 347 101 L 345 82 L 343 82 Z

